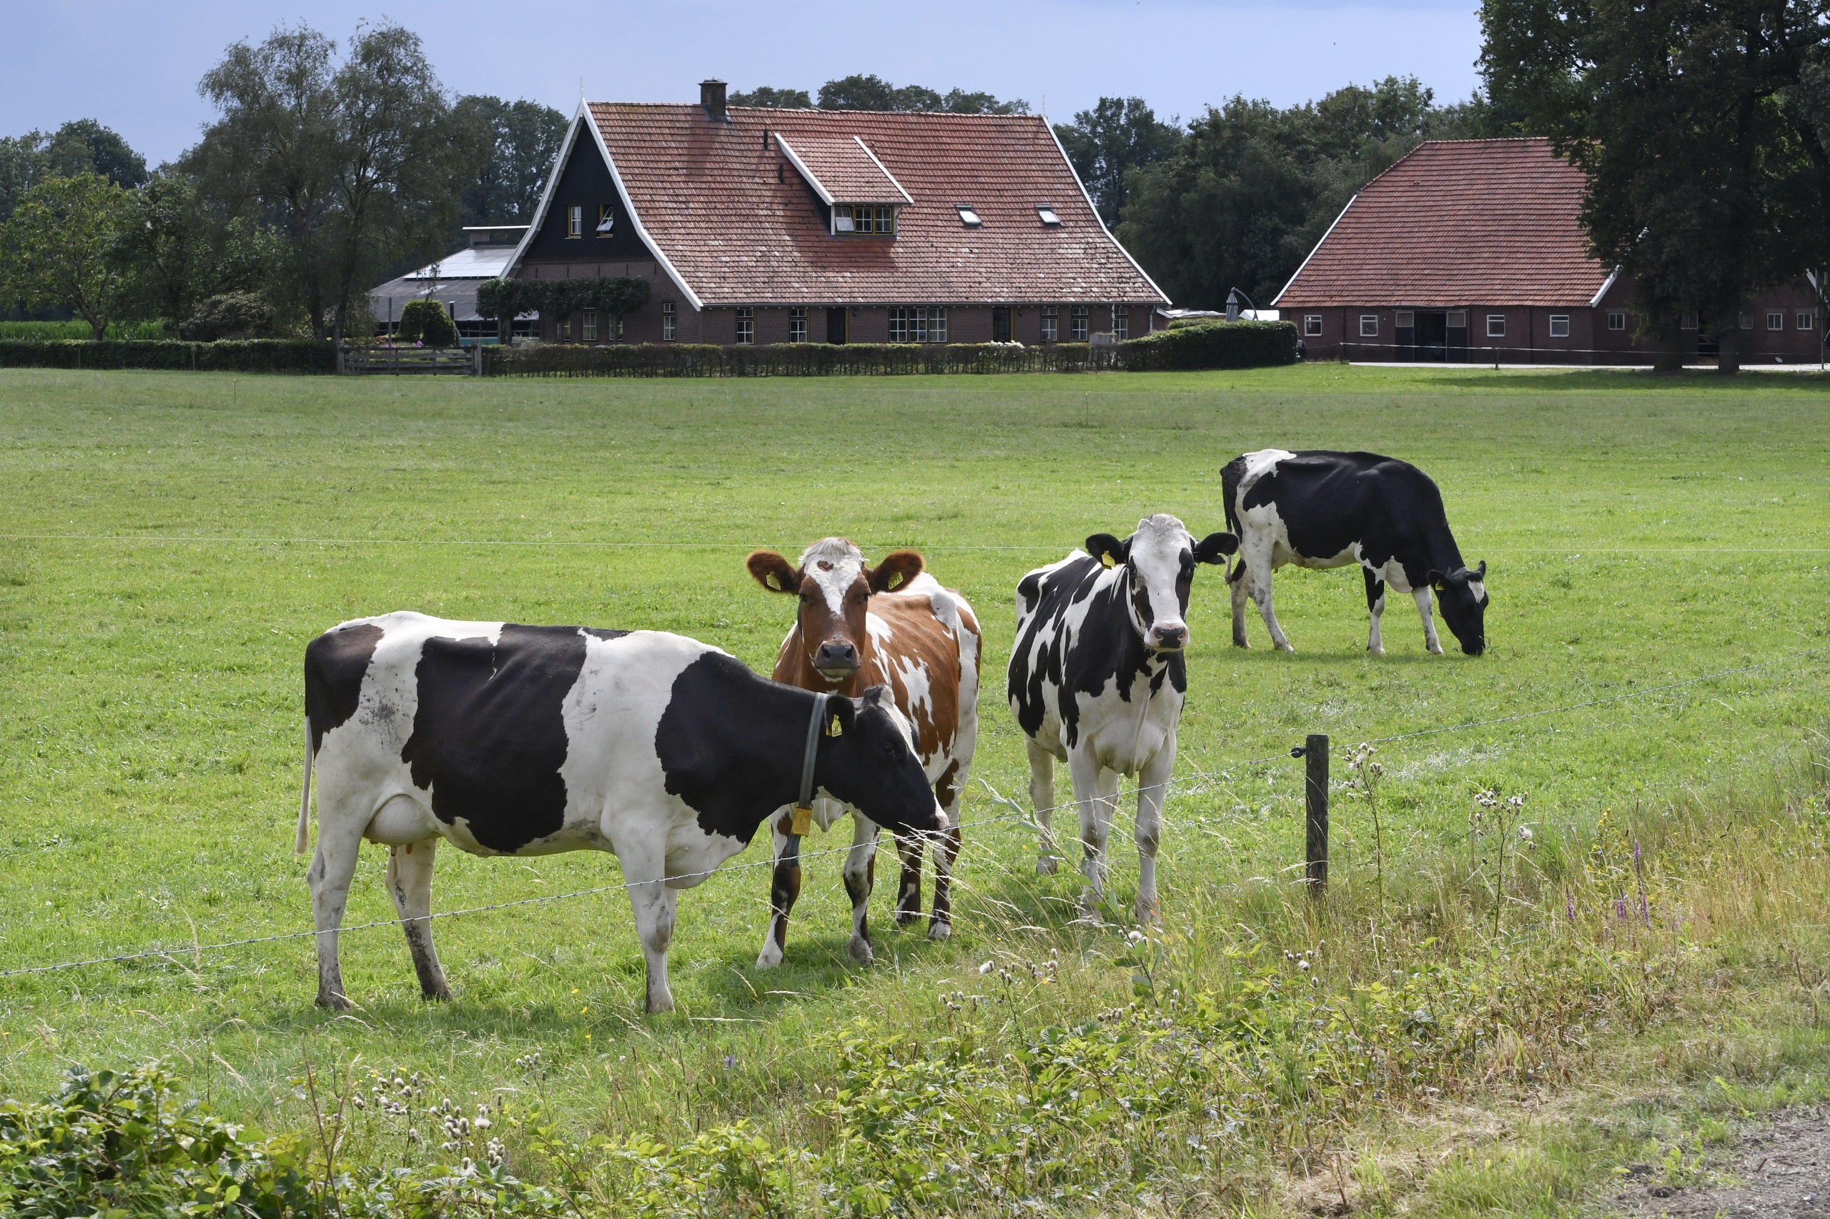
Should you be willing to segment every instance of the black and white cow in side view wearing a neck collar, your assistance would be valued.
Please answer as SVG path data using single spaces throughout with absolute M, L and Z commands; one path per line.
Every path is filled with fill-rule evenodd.
M 390 613 L 306 648 L 306 849 L 318 1003 L 350 1007 L 337 963 L 362 840 L 388 847 L 388 891 L 426 998 L 447 998 L 432 950 L 432 857 L 611 851 L 648 957 L 648 1010 L 673 1010 L 675 890 L 699 884 L 800 796 L 814 696 L 662 631 L 450 622 Z M 946 818 L 889 690 L 831 697 L 814 791 L 895 831 Z

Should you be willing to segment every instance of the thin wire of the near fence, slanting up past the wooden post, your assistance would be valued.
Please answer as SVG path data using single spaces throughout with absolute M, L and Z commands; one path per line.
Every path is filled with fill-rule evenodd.
M 1577 703 L 1565 703 L 1565 705 L 1559 705 L 1559 707 L 1545 707 L 1545 708 L 1535 708 L 1535 710 L 1528 710 L 1528 712 L 1515 712 L 1515 714 L 1510 714 L 1510 716 L 1493 716 L 1493 717 L 1484 717 L 1484 719 L 1468 719 L 1468 721 L 1453 723 L 1453 725 L 1437 725 L 1437 727 L 1429 727 L 1429 728 L 1416 728 L 1416 730 L 1411 730 L 1411 732 L 1394 732 L 1394 734 L 1387 734 L 1387 736 L 1380 736 L 1380 738 L 1369 738 L 1365 743 L 1369 743 L 1369 745 L 1383 745 L 1383 743 L 1409 741 L 1409 739 L 1418 739 L 1418 738 L 1426 738 L 1426 736 L 1440 736 L 1440 734 L 1449 734 L 1449 732 L 1468 732 L 1468 730 L 1475 730 L 1475 728 L 1486 728 L 1486 727 L 1519 723 L 1519 721 L 1539 719 L 1539 717 L 1546 717 L 1546 716 L 1570 714 L 1570 712 L 1587 710 L 1587 708 L 1594 708 L 1594 707 L 1609 707 L 1609 705 L 1618 705 L 1618 703 L 1625 703 L 1625 701 L 1632 701 L 1632 699 L 1651 697 L 1651 696 L 1656 696 L 1656 694 L 1669 694 L 1673 690 L 1684 690 L 1684 688 L 1706 685 L 1706 683 L 1711 683 L 1711 681 L 1722 681 L 1726 677 L 1735 677 L 1735 675 L 1760 672 L 1760 670 L 1771 670 L 1771 668 L 1777 668 L 1777 666 L 1782 666 L 1782 664 L 1797 664 L 1799 661 L 1808 661 L 1808 659 L 1825 655 L 1826 652 L 1830 652 L 1830 644 L 1825 644 L 1825 646 L 1819 646 L 1819 648 L 1806 648 L 1806 650 L 1801 650 L 1801 652 L 1790 652 L 1786 655 L 1777 655 L 1777 657 L 1771 657 L 1771 659 L 1766 659 L 1766 661 L 1757 661 L 1757 663 L 1751 663 L 1751 664 L 1738 664 L 1738 666 L 1733 666 L 1733 668 L 1724 668 L 1724 670 L 1717 670 L 1717 672 L 1711 672 L 1711 674 L 1702 674 L 1702 675 L 1696 675 L 1696 677 L 1687 677 L 1687 679 L 1682 679 L 1682 681 L 1671 681 L 1671 683 L 1662 683 L 1662 685 L 1656 685 L 1656 686 L 1645 686 L 1645 688 L 1640 688 L 1640 690 L 1629 690 L 1629 692 L 1616 694 L 1616 696 L 1596 697 L 1596 699 L 1583 699 L 1583 701 L 1577 701 Z M 1285 752 L 1279 752 L 1279 754 L 1266 754 L 1266 756 L 1261 756 L 1261 758 L 1243 758 L 1243 760 L 1232 761 L 1232 763 L 1228 763 L 1224 767 L 1217 767 L 1217 769 L 1193 769 L 1193 771 L 1186 771 L 1186 772 L 1182 772 L 1182 774 L 1179 774 L 1179 776 L 1164 782 L 1162 787 L 1166 791 L 1184 791 L 1184 793 L 1193 794 L 1193 793 L 1200 791 L 1204 785 L 1210 785 L 1210 783 L 1221 783 L 1221 782 L 1232 783 L 1235 780 L 1237 772 L 1241 772 L 1241 771 L 1255 769 L 1255 767 L 1266 767 L 1266 765 L 1272 765 L 1272 763 L 1285 763 L 1292 756 L 1294 756 L 1292 750 L 1285 750 Z M 974 816 L 970 820 L 968 818 L 961 818 L 961 829 L 966 831 L 966 833 L 970 833 L 970 835 L 974 835 L 974 836 L 966 836 L 963 840 L 963 844 L 961 844 L 959 858 L 955 858 L 955 862 L 953 862 L 952 882 L 955 886 L 963 888 L 963 890 L 968 890 L 968 891 L 972 891 L 975 886 L 972 886 L 970 879 L 961 877 L 961 871 L 959 871 L 959 860 L 966 858 L 968 849 L 972 851 L 974 860 L 983 860 L 990 868 L 996 868 L 997 871 L 1001 871 L 1005 877 L 1012 877 L 1012 879 L 1014 877 L 1021 877 L 1021 873 L 1016 868 L 1012 868 L 1010 860 L 1005 860 L 1005 858 L 1001 858 L 1001 857 L 986 851 L 986 847 L 975 836 L 977 831 L 988 829 L 988 827 L 994 827 L 994 825 L 1023 824 L 1038 838 L 1041 838 L 1043 835 L 1049 833 L 1045 829 L 1045 825 L 1043 825 L 1041 814 L 1047 813 L 1047 814 L 1052 816 L 1054 813 L 1074 811 L 1076 816 L 1078 816 L 1078 809 L 1080 809 L 1080 802 L 1078 800 L 1061 800 L 1061 802 L 1058 802 L 1054 805 L 1049 805 L 1049 807 L 1043 807 L 1043 809 L 1027 809 L 1017 800 L 1014 800 L 1012 796 L 1006 796 L 1006 794 L 999 793 L 996 787 L 992 787 L 983 778 L 979 780 L 979 783 L 986 791 L 988 804 L 992 807 L 1003 807 L 1006 811 L 999 813 L 999 814 L 992 814 L 992 816 Z M 1135 783 L 1129 785 L 1129 787 L 1127 785 L 1120 785 L 1120 789 L 1109 800 L 1109 811 L 1113 814 L 1116 814 L 1118 809 L 1120 809 L 1120 805 L 1122 805 L 1122 802 L 1125 798 L 1133 798 L 1135 800 L 1136 794 L 1138 794 L 1138 791 L 1140 791 L 1140 787 L 1135 785 Z M 1114 816 L 1114 820 L 1116 820 L 1116 816 Z M 1171 824 L 1171 818 L 1164 816 L 1164 825 L 1168 827 L 1169 824 Z M 853 846 L 847 844 L 847 846 L 836 846 L 836 847 L 824 847 L 824 849 L 818 849 L 818 851 L 802 851 L 800 858 L 805 862 L 805 860 L 824 858 L 824 857 L 831 857 L 831 855 L 849 855 L 851 851 L 853 851 Z M 1116 853 L 1111 849 L 1111 838 L 1109 838 L 1107 840 L 1107 866 L 1109 868 L 1111 868 L 1111 862 L 1113 862 L 1114 855 Z M 490 912 L 498 912 L 498 910 L 514 910 L 514 908 L 523 908 L 523 906 L 542 906 L 542 904 L 554 904 L 554 902 L 569 902 L 569 901 L 578 901 L 578 899 L 586 899 L 586 897 L 600 897 L 604 893 L 630 891 L 630 890 L 640 888 L 644 884 L 675 884 L 675 886 L 679 886 L 681 880 L 708 880 L 708 879 L 714 879 L 714 877 L 730 877 L 730 875 L 737 875 L 737 873 L 748 873 L 748 871 L 756 871 L 756 869 L 761 869 L 761 868 L 770 868 L 772 869 L 774 866 L 776 866 L 774 857 L 754 858 L 754 860 L 745 860 L 741 864 L 725 864 L 725 866 L 719 866 L 719 868 L 708 868 L 708 869 L 692 871 L 692 873 L 677 873 L 677 875 L 672 875 L 672 877 L 659 877 L 659 879 L 648 879 L 648 880 L 617 880 L 617 882 L 611 882 L 611 884 L 600 884 L 600 886 L 591 886 L 591 888 L 582 888 L 582 890 L 567 890 L 564 893 L 542 893 L 542 895 L 536 895 L 536 897 L 520 897 L 520 899 L 503 901 L 503 902 L 489 902 L 489 904 L 479 904 L 479 906 L 463 906 L 463 908 L 456 908 L 456 910 L 436 910 L 436 912 L 430 912 L 426 915 L 415 915 L 412 919 L 399 919 L 399 917 L 397 919 L 373 919 L 373 921 L 366 921 L 366 922 L 353 922 L 353 924 L 340 926 L 340 928 L 337 928 L 337 933 L 342 935 L 346 932 L 368 932 L 368 930 L 375 930 L 375 928 L 406 926 L 408 922 L 425 924 L 425 922 L 432 922 L 432 921 L 437 921 L 437 919 L 461 919 L 461 917 L 481 915 L 481 913 L 490 913 Z M 1297 860 L 1292 868 L 1301 868 L 1301 866 L 1303 866 L 1301 860 Z M 1034 888 L 1036 880 L 1038 879 L 1032 875 L 1032 877 L 1027 879 L 1027 884 L 1030 888 Z M 1005 902 L 1003 899 L 990 897 L 988 893 L 983 893 L 983 891 L 979 891 L 977 895 L 981 899 L 988 899 L 988 901 L 997 902 L 997 904 L 1005 904 L 1005 906 L 1010 904 L 1010 902 Z M 1039 897 L 1041 901 L 1049 901 L 1049 902 L 1074 902 L 1076 901 L 1076 899 L 1065 899 L 1065 897 L 1061 897 L 1058 893 L 1039 893 L 1039 890 L 1034 895 Z M 759 897 L 758 901 L 763 902 L 763 904 L 769 902 L 767 897 Z M 1030 930 L 1041 930 L 1041 928 L 1030 928 Z M 192 961 L 199 961 L 205 954 L 220 954 L 220 952 L 229 952 L 232 948 L 251 948 L 251 946 L 258 946 L 258 944 L 276 944 L 276 943 L 287 943 L 287 941 L 298 941 L 298 939 L 313 939 L 317 935 L 318 935 L 318 932 L 313 928 L 313 930 L 300 930 L 300 932 L 278 932 L 278 933 L 271 933 L 271 935 L 249 935 L 249 937 L 243 937 L 243 939 L 214 941 L 214 943 L 209 943 L 209 944 L 199 944 L 192 937 L 192 943 L 188 943 L 188 944 L 152 946 L 152 948 L 139 948 L 139 950 L 123 952 L 123 954 L 102 954 L 102 955 L 77 957 L 77 959 L 55 961 L 55 963 L 44 963 L 44 965 L 11 966 L 11 968 L 0 970 L 0 979 L 27 977 L 27 976 L 44 976 L 44 974 L 59 974 L 59 972 L 68 972 L 68 970 L 77 970 L 77 968 L 90 968 L 90 966 L 101 966 L 101 965 L 124 965 L 124 963 L 132 963 L 132 961 L 148 961 L 148 959 L 178 961 L 181 957 L 190 957 Z

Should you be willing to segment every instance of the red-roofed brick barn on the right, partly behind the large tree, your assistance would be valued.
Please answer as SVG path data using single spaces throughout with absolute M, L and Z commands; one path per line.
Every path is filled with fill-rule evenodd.
M 1418 145 L 1356 194 L 1274 302 L 1310 357 L 1643 364 L 1632 282 L 1588 254 L 1583 176 L 1548 139 Z M 1751 298 L 1742 362 L 1819 361 L 1806 284 Z M 1682 320 L 1685 361 L 1717 342 Z

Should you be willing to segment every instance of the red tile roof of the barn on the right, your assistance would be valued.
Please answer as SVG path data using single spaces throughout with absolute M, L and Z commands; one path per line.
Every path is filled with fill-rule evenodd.
M 1347 205 L 1274 302 L 1587 306 L 1609 278 L 1581 229 L 1581 170 L 1548 139 L 1418 145 Z

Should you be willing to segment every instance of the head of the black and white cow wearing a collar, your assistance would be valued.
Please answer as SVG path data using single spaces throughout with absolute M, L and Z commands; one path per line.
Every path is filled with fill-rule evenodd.
M 871 686 L 858 699 L 834 697 L 825 707 L 818 785 L 893 833 L 944 831 L 946 814 L 889 686 Z

